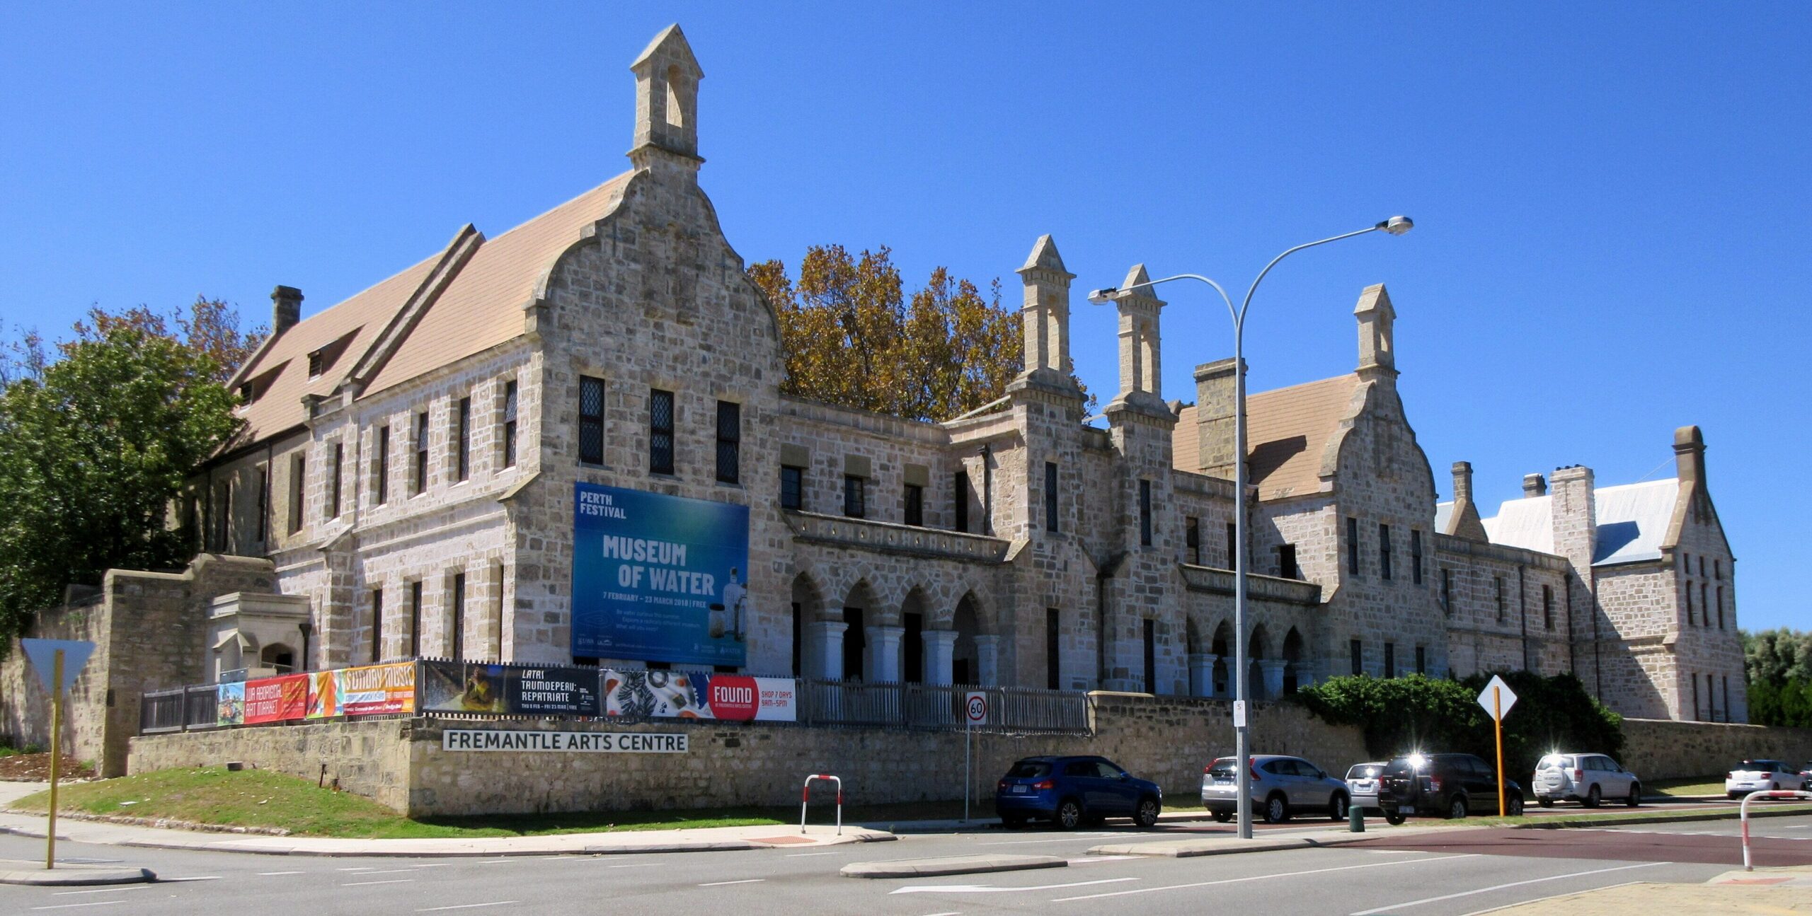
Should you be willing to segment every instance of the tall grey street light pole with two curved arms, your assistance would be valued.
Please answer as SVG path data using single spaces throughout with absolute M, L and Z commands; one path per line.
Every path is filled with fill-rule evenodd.
M 1250 663 L 1247 661 L 1247 444 L 1245 444 L 1245 315 L 1247 308 L 1252 306 L 1252 293 L 1258 291 L 1258 284 L 1263 282 L 1270 268 L 1277 266 L 1285 257 L 1301 252 L 1303 248 L 1314 248 L 1317 244 L 1337 243 L 1341 239 L 1352 239 L 1354 235 L 1364 235 L 1368 232 L 1388 232 L 1392 235 L 1402 235 L 1410 232 L 1415 223 L 1406 215 L 1393 215 L 1375 226 L 1366 226 L 1363 230 L 1346 232 L 1341 235 L 1330 235 L 1326 239 L 1312 241 L 1306 244 L 1297 244 L 1283 252 L 1281 255 L 1270 259 L 1265 270 L 1258 272 L 1252 286 L 1247 288 L 1245 299 L 1239 308 L 1234 308 L 1234 301 L 1227 295 L 1221 284 L 1203 277 L 1200 273 L 1176 273 L 1172 277 L 1163 277 L 1158 281 L 1147 281 L 1125 290 L 1109 286 L 1105 290 L 1094 290 L 1089 293 L 1089 302 L 1104 306 L 1113 302 L 1123 293 L 1143 286 L 1158 286 L 1171 281 L 1200 281 L 1221 293 L 1221 301 L 1227 302 L 1227 313 L 1234 319 L 1234 753 L 1238 762 L 1234 766 L 1236 795 L 1238 795 L 1238 818 L 1239 818 L 1239 838 L 1252 838 L 1252 748 L 1248 744 L 1248 715 L 1247 715 L 1247 679 L 1250 677 Z

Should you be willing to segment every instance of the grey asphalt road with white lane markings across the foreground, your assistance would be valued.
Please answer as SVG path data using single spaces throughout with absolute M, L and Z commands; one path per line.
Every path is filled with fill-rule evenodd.
M 1143 831 L 988 831 L 904 836 L 790 853 L 638 856 L 520 856 L 458 860 L 254 856 L 58 844 L 69 860 L 145 865 L 159 883 L 101 889 L 0 887 L 5 912 L 130 912 L 149 916 L 536 912 L 803 916 L 859 912 L 931 916 L 977 912 L 1267 916 L 1459 916 L 1508 903 L 1625 882 L 1703 882 L 1727 864 L 1682 862 L 1682 851 L 1736 849 L 1734 824 L 1654 824 L 1631 829 L 1502 831 L 1537 842 L 1497 842 L 1460 829 L 1368 845 L 1247 853 L 1189 860 L 1098 858 L 1087 849 Z M 1812 816 L 1765 818 L 1756 836 L 1812 864 Z M 1564 854 L 1544 844 L 1566 842 Z M 1408 847 L 1417 845 L 1417 847 Z M 42 840 L 0 836 L 0 856 L 33 858 Z M 1538 853 L 1537 853 L 1538 851 Z M 978 853 L 1051 854 L 1064 869 L 926 880 L 857 880 L 848 862 Z M 1705 854 L 1700 858 L 1718 858 Z M 1665 858 L 1642 858 L 1665 856 Z

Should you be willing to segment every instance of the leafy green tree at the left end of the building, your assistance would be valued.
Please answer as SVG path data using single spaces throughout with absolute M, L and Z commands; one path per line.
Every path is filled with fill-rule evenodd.
M 0 628 L 18 632 L 65 585 L 98 585 L 111 567 L 194 556 L 167 509 L 237 429 L 221 360 L 255 342 L 230 308 L 199 299 L 169 320 L 92 310 L 54 358 L 31 339 L 14 346 L 0 389 Z

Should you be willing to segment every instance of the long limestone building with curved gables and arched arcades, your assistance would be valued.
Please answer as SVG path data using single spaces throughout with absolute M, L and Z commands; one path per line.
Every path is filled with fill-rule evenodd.
M 725 668 L 1230 693 L 1230 360 L 1163 400 L 1163 302 L 1123 297 L 1118 393 L 1087 425 L 1046 235 L 1018 268 L 1026 369 L 995 404 L 924 424 L 781 395 L 776 315 L 698 185 L 703 72 L 678 27 L 631 69 L 627 172 L 496 237 L 467 224 L 308 320 L 277 288 L 234 378 L 245 431 L 183 523 L 268 559 L 288 597 L 214 599 L 198 668 L 696 664 L 580 648 L 576 507 L 612 489 L 747 509 L 747 599 L 723 570 L 708 587 L 712 614 L 743 610 Z M 1678 480 L 1562 469 L 1482 520 L 1459 463 L 1437 505 L 1393 320 L 1366 288 L 1354 371 L 1250 396 L 1254 693 L 1524 666 L 1633 715 L 1743 720 L 1696 427 Z

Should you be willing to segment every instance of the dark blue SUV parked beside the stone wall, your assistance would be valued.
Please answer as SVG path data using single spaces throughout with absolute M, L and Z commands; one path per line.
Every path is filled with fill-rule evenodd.
M 1113 816 L 1151 827 L 1161 809 L 1156 782 L 1132 778 L 1105 757 L 1027 757 L 995 786 L 995 813 L 1006 827 L 1038 818 L 1073 831 Z

